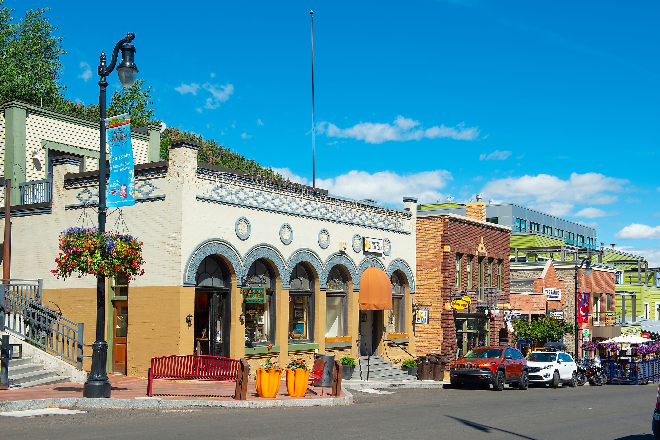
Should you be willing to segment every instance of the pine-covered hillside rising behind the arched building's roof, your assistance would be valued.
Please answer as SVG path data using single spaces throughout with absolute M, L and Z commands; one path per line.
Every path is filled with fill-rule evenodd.
M 273 171 L 273 167 L 266 168 L 259 165 L 259 162 L 255 162 L 254 159 L 246 159 L 242 154 L 232 152 L 229 148 L 224 148 L 222 144 L 218 145 L 215 139 L 203 139 L 201 135 L 198 136 L 195 133 L 182 131 L 175 127 L 168 127 L 165 130 L 164 137 L 160 139 L 160 157 L 167 159 L 169 146 L 172 145 L 172 142 L 179 139 L 199 143 L 198 162 L 223 166 L 224 168 L 263 175 L 265 177 L 273 177 L 274 179 L 283 179 L 280 173 Z

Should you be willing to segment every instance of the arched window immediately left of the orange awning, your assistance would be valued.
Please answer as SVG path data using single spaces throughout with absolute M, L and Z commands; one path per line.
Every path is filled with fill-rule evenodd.
M 341 266 L 330 270 L 325 291 L 325 337 L 348 335 L 348 278 Z

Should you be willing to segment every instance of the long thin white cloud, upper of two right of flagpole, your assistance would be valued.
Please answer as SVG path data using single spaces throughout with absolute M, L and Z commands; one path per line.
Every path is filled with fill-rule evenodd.
M 463 141 L 473 141 L 479 135 L 478 127 L 465 127 L 464 123 L 456 127 L 438 125 L 424 129 L 419 121 L 397 116 L 393 123 L 360 122 L 352 127 L 340 129 L 337 125 L 321 121 L 316 126 L 319 135 L 327 137 L 356 139 L 368 144 L 381 144 L 387 141 L 419 141 L 420 139 L 451 138 Z

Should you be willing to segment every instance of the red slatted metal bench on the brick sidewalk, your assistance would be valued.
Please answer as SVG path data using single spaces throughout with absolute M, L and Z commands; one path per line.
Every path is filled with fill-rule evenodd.
M 183 354 L 151 358 L 147 395 L 151 397 L 154 379 L 178 381 L 224 381 L 237 380 L 240 361 L 206 354 Z

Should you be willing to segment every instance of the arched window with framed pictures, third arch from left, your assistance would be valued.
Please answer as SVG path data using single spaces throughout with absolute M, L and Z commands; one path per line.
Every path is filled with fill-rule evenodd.
M 314 274 L 305 263 L 291 272 L 289 342 L 314 342 Z

